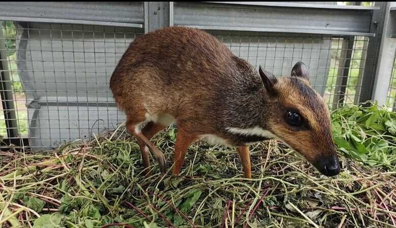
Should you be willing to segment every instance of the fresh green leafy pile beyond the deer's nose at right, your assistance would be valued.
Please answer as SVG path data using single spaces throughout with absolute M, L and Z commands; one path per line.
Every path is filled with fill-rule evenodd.
M 396 113 L 372 104 L 348 105 L 331 114 L 333 137 L 346 157 L 364 164 L 396 166 Z

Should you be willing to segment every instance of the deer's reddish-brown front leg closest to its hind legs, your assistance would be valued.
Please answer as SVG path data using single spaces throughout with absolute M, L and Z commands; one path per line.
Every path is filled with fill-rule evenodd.
M 187 134 L 186 132 L 184 132 L 179 128 L 176 136 L 175 157 L 173 162 L 174 175 L 179 175 L 180 169 L 184 162 L 184 158 L 186 156 L 187 148 L 195 139 L 196 139 L 195 136 Z

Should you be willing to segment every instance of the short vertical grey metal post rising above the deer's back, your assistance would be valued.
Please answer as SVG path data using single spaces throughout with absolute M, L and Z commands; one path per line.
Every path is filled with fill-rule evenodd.
M 145 33 L 172 25 L 173 2 L 144 2 Z

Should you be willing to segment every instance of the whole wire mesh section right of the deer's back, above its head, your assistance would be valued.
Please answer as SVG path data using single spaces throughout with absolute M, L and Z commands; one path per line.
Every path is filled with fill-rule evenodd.
M 330 107 L 356 103 L 364 71 L 368 37 L 337 37 L 266 32 L 209 31 L 235 55 L 275 76 L 289 76 L 303 61 L 310 82 Z

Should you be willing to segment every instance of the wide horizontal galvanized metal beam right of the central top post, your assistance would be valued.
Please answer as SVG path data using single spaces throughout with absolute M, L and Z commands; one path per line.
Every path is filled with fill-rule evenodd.
M 317 34 L 373 35 L 370 10 L 248 6 L 217 3 L 174 4 L 175 25 L 215 26 L 216 29 Z

